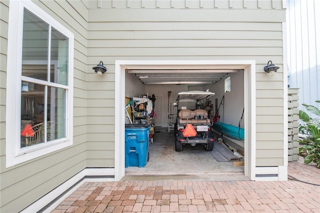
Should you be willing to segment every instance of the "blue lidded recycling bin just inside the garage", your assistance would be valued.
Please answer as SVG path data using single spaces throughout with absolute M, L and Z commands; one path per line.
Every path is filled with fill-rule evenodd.
M 148 160 L 149 124 L 125 124 L 125 168 L 145 167 Z

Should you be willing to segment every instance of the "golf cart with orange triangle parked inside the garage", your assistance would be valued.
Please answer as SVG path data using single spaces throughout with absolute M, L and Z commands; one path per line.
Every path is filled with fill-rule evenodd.
M 212 151 L 213 149 L 213 132 L 210 129 L 211 118 L 208 112 L 200 109 L 200 100 L 206 99 L 214 95 L 213 92 L 208 91 L 188 91 L 179 92 L 176 98 L 178 113 L 174 128 L 175 135 L 175 151 L 181 152 L 182 145 L 196 144 L 204 145 L 205 151 Z M 179 102 L 194 102 L 196 109 L 188 110 L 179 108 Z

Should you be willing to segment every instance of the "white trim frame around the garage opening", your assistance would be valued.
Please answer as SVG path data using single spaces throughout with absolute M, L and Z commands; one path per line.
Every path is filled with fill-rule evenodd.
M 125 69 L 244 69 L 244 175 L 255 178 L 255 60 L 115 60 L 114 180 L 124 168 Z

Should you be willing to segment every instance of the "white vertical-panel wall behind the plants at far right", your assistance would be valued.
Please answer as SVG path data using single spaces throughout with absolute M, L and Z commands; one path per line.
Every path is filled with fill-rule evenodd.
M 288 84 L 299 88 L 299 109 L 303 103 L 320 107 L 320 1 L 288 0 L 287 46 Z

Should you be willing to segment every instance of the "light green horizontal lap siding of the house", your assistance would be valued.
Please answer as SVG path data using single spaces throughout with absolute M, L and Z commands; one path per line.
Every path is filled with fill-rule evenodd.
M 115 60 L 255 60 L 256 166 L 283 165 L 282 0 L 33 2 L 74 33 L 73 146 L 5 168 L 9 1 L 1 1 L 1 212 L 23 210 L 85 168 L 114 167 Z M 268 60 L 280 66 L 272 77 Z M 102 76 L 92 70 L 99 61 Z

